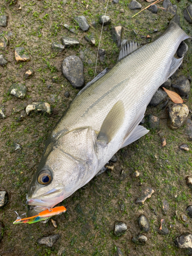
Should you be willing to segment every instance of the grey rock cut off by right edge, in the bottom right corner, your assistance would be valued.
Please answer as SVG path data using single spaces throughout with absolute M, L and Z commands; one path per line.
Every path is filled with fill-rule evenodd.
M 176 237 L 175 244 L 179 248 L 187 249 L 188 255 L 192 253 L 192 234 L 189 232 L 181 234 Z

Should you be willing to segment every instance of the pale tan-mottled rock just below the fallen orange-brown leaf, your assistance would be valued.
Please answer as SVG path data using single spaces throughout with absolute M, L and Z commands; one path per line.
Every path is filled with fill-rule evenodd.
M 178 129 L 187 119 L 189 110 L 185 104 L 170 104 L 168 106 L 169 125 L 172 129 Z

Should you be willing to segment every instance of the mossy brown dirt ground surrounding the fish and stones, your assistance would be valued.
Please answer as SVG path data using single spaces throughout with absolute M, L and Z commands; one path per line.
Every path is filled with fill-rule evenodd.
M 79 189 L 61 202 L 60 205 L 67 207 L 67 212 L 53 217 L 57 228 L 54 228 L 51 221 L 46 224 L 12 224 L 16 219 L 15 210 L 19 215 L 27 212 L 26 193 L 46 139 L 78 93 L 61 74 L 62 60 L 70 55 L 79 55 L 80 50 L 89 49 L 93 65 L 84 62 L 84 77 L 86 82 L 93 79 L 101 31 L 98 17 L 104 14 L 106 2 L 24 0 L 14 4 L 11 0 L 1 1 L 0 15 L 5 14 L 9 18 L 8 26 L 0 27 L 0 32 L 7 35 L 9 46 L 0 50 L 0 54 L 3 53 L 8 60 L 6 67 L 0 66 L 0 104 L 5 106 L 6 114 L 6 119 L 0 119 L 0 190 L 8 191 L 9 202 L 0 209 L 0 221 L 4 224 L 0 254 L 114 256 L 118 246 L 124 255 L 185 255 L 184 251 L 175 246 L 174 239 L 183 232 L 191 231 L 191 219 L 188 218 L 185 223 L 181 220 L 181 215 L 186 215 L 186 207 L 192 203 L 191 191 L 185 184 L 185 177 L 191 175 L 192 145 L 185 135 L 186 125 L 175 131 L 170 130 L 167 126 L 166 109 L 161 109 L 160 106 L 147 107 L 146 111 L 147 114 L 160 118 L 159 129 L 151 130 L 146 136 L 120 150 L 117 153 L 118 161 L 111 172 L 94 178 L 85 189 Z M 139 2 L 142 7 L 148 5 L 147 2 Z M 130 10 L 129 3 L 127 0 L 119 0 L 118 4 L 112 4 L 111 0 L 109 2 L 107 14 L 112 23 L 104 27 L 100 47 L 106 50 L 106 60 L 103 64 L 98 61 L 97 74 L 116 63 L 119 49 L 110 33 L 113 26 L 123 26 L 123 38 L 147 44 L 162 34 L 173 18 L 172 14 L 162 9 L 158 9 L 157 14 L 145 10 L 132 18 L 138 10 Z M 178 7 L 177 13 L 181 16 L 183 29 L 192 35 L 191 25 L 183 17 L 183 10 L 191 3 L 184 0 L 172 3 Z M 124 12 L 120 12 L 120 9 Z M 95 20 L 96 28 L 91 26 L 89 32 L 82 32 L 73 19 L 76 15 L 86 16 L 90 25 Z M 65 29 L 64 24 L 73 27 L 76 34 Z M 158 32 L 154 33 L 154 29 L 158 29 Z M 96 39 L 95 46 L 84 39 L 85 35 L 91 33 L 94 33 Z M 53 52 L 52 42 L 61 42 L 62 35 L 76 37 L 80 41 L 79 48 L 65 49 L 63 53 Z M 146 39 L 147 35 L 151 38 Z M 192 76 L 191 41 L 188 40 L 187 44 L 189 50 L 178 74 Z M 19 46 L 25 47 L 31 61 L 16 63 L 14 49 Z M 35 73 L 32 78 L 25 80 L 24 73 L 28 68 L 32 68 Z M 52 76 L 58 77 L 57 82 L 52 82 Z M 28 91 L 24 99 L 9 95 L 8 90 L 15 82 L 26 84 Z M 70 93 L 69 98 L 64 96 L 66 91 Z M 32 113 L 27 116 L 26 106 L 37 101 L 49 102 L 53 113 Z M 192 110 L 191 94 L 185 104 Z M 24 116 L 23 121 L 18 120 L 20 115 Z M 165 147 L 161 147 L 157 135 L 159 131 L 166 137 Z M 22 150 L 14 151 L 15 143 L 20 144 Z M 182 143 L 188 144 L 189 152 L 179 150 Z M 132 178 L 134 170 L 140 172 L 137 179 Z M 139 206 L 135 204 L 135 200 L 144 187 L 153 188 L 155 193 L 143 206 Z M 163 215 L 164 200 L 169 203 L 167 215 Z M 137 223 L 140 214 L 145 214 L 151 225 L 144 246 L 132 243 L 132 238 L 141 231 Z M 169 229 L 166 236 L 157 232 L 162 218 Z M 113 234 L 116 220 L 127 224 L 127 231 L 120 238 Z M 169 227 L 170 224 L 173 224 L 172 228 Z M 58 233 L 60 239 L 52 248 L 37 244 L 38 238 L 54 233 Z

